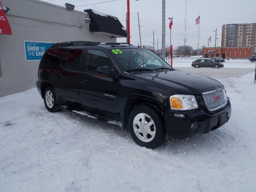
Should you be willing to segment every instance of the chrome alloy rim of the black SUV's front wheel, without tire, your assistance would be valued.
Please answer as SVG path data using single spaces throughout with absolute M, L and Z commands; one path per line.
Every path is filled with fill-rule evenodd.
M 133 130 L 135 135 L 143 142 L 150 142 L 156 136 L 156 126 L 152 118 L 145 113 L 139 113 L 134 117 Z

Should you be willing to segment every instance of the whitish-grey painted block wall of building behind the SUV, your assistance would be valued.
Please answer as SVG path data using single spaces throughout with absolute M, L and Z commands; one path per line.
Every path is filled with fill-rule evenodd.
M 12 35 L 0 34 L 0 97 L 36 86 L 40 61 L 25 61 L 24 40 L 116 42 L 116 38 L 90 34 L 88 28 L 79 28 L 80 19 L 86 17 L 85 12 L 38 0 L 1 0 L 1 4 L 10 8 L 6 17 Z

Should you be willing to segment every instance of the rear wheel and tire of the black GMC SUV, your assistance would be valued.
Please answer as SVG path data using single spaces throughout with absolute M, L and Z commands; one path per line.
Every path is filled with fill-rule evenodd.
M 50 112 L 58 112 L 60 110 L 60 108 L 58 108 L 55 92 L 50 86 L 46 87 L 44 90 L 44 105 Z

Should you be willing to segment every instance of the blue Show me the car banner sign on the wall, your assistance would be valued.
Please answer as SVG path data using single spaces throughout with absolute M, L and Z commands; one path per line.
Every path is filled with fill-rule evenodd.
M 52 42 L 24 41 L 25 60 L 40 61 L 44 52 L 52 46 Z

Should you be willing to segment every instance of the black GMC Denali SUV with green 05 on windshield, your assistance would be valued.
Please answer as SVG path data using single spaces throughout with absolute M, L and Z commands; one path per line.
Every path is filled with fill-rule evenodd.
M 36 86 L 48 111 L 67 110 L 128 128 L 146 148 L 160 146 L 168 136 L 206 134 L 231 114 L 220 82 L 176 70 L 130 44 L 53 44 L 42 57 Z

